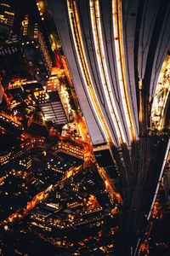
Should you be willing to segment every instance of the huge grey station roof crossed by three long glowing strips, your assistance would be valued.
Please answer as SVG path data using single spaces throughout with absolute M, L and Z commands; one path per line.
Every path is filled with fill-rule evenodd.
M 132 5 L 128 1 L 122 1 L 122 4 L 121 1 L 47 2 L 54 15 L 77 96 L 81 102 L 82 113 L 94 145 L 130 145 L 139 138 L 140 133 L 140 87 L 144 83 L 150 84 L 148 94 L 150 98 L 153 97 L 157 76 L 169 47 L 167 2 L 164 4 L 158 1 L 155 9 L 152 9 L 151 3 L 140 6 L 139 1 Z M 119 12 L 116 12 L 117 8 L 120 8 Z M 111 9 L 116 15 L 111 16 Z M 165 13 L 164 18 L 161 10 Z M 151 23 L 150 13 L 154 23 Z M 144 43 L 142 38 L 142 31 L 145 32 L 145 38 L 148 38 L 149 33 L 142 23 L 143 15 L 147 16 L 147 22 L 151 26 L 148 43 Z M 159 15 L 161 22 L 158 21 Z M 140 20 L 137 20 L 138 17 Z M 122 22 L 121 28 L 117 26 L 117 20 Z M 162 35 L 156 34 L 156 22 L 159 22 Z M 156 40 L 151 40 L 151 36 L 156 37 Z M 138 40 L 135 37 L 138 37 Z M 143 44 L 146 45 L 147 55 L 142 59 Z M 155 44 L 154 48 L 152 44 Z M 146 64 L 149 65 L 150 48 L 154 50 L 155 55 L 151 56 L 153 66 L 150 65 L 148 74 Z M 156 49 L 161 49 L 159 55 Z M 155 73 L 156 60 L 159 62 L 159 69 Z M 147 81 L 144 80 L 146 77 Z M 146 102 L 148 106 L 148 98 Z

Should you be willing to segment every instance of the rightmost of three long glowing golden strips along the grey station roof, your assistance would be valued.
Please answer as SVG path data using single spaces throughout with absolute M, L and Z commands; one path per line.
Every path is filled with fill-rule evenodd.
M 128 134 L 131 141 L 136 140 L 137 131 L 133 123 L 133 115 L 129 103 L 127 91 L 127 76 L 124 60 L 123 34 L 122 34 L 122 0 L 112 0 L 112 20 L 114 43 L 116 52 L 116 66 L 118 73 L 119 86 L 122 96 L 122 106 L 127 123 Z

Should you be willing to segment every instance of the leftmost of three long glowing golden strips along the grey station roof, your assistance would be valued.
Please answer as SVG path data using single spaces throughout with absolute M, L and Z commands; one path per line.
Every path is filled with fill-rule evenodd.
M 111 131 L 105 121 L 104 114 L 99 106 L 99 101 L 94 90 L 94 84 L 88 68 L 88 61 L 85 55 L 85 49 L 82 42 L 82 32 L 80 20 L 77 12 L 77 3 L 75 0 L 67 0 L 68 15 L 71 25 L 72 38 L 77 52 L 77 59 L 82 73 L 82 79 L 86 85 L 88 98 L 94 109 L 94 113 L 99 121 L 101 130 L 104 132 L 106 141 L 110 144 L 115 144 L 115 140 L 111 135 Z

